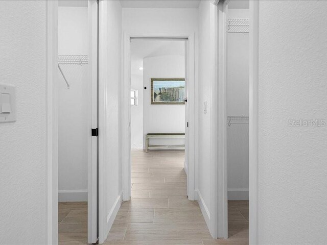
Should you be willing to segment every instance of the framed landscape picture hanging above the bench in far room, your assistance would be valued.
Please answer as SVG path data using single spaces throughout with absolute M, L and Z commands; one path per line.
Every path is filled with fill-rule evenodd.
M 184 78 L 151 78 L 151 105 L 184 105 Z

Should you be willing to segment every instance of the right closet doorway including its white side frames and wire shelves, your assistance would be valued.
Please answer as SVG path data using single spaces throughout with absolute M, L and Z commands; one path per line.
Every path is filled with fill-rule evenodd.
M 218 194 L 220 193 L 218 197 L 218 206 L 221 207 L 218 209 L 218 234 L 219 237 L 224 238 L 240 237 L 250 244 L 256 244 L 257 229 L 258 6 L 259 3 L 256 1 L 242 1 L 242 3 L 239 1 L 224 1 L 219 2 L 217 5 L 219 17 L 217 21 L 217 46 L 218 53 L 220 54 L 218 58 L 218 87 L 220 88 L 218 89 L 218 96 L 220 97 L 218 111 L 220 111 L 219 135 L 221 142 L 221 144 L 218 145 L 218 152 L 221 156 L 218 161 L 218 168 L 220 169 L 218 175 L 221 176 L 220 180 L 218 179 L 218 189 L 222 190 L 218 192 Z M 241 34 L 243 36 L 239 37 L 239 39 L 235 39 L 235 37 L 232 36 L 233 34 Z M 248 37 L 246 35 L 248 35 Z M 230 42 L 228 42 L 228 39 L 233 38 L 234 40 L 229 40 Z M 243 47 L 243 51 L 239 51 L 239 53 L 236 54 L 229 50 L 230 46 L 242 39 L 243 41 L 239 43 L 239 46 L 236 48 Z M 233 54 L 235 56 L 231 57 Z M 230 64 L 233 59 L 236 61 Z M 228 67 L 228 65 L 230 67 Z M 243 92 L 240 93 L 239 91 L 239 97 L 231 101 L 233 96 L 235 98 L 238 89 L 232 86 L 233 83 L 237 81 L 241 83 L 241 80 L 237 78 L 238 74 L 235 72 L 234 74 L 230 74 L 232 69 L 235 69 L 235 65 L 240 67 L 245 81 L 243 80 L 244 82 L 238 87 L 243 87 Z M 234 78 L 234 80 L 231 81 L 231 78 Z M 231 97 L 228 98 L 228 96 Z M 248 101 L 245 101 L 245 96 L 248 96 Z M 241 114 L 238 115 L 228 114 L 233 111 L 237 112 L 233 110 L 232 103 L 235 105 L 235 103 L 239 102 L 239 99 L 244 100 L 244 104 L 238 107 L 238 110 L 243 108 L 242 110 L 244 111 L 240 111 Z M 246 110 L 248 114 L 245 114 L 247 112 Z M 231 129 L 232 126 L 236 126 L 235 129 Z M 239 133 L 236 134 L 236 131 L 239 131 Z M 236 138 L 231 138 L 233 136 L 243 137 L 243 139 L 239 139 L 239 145 L 235 144 Z M 235 146 L 238 149 L 237 154 L 235 154 L 235 150 L 232 150 L 235 149 Z M 231 152 L 236 156 L 242 156 L 242 158 L 240 158 L 241 160 L 235 161 L 235 156 L 231 156 Z M 233 163 L 230 163 L 232 161 Z M 233 168 L 232 164 L 242 164 L 242 166 L 239 166 L 239 169 L 243 169 L 243 171 L 235 171 L 236 168 Z M 233 174 L 239 175 L 239 177 L 234 179 L 229 178 Z M 229 199 L 241 200 L 228 201 Z M 237 203 L 237 201 L 239 201 L 239 203 Z M 228 207 L 230 209 L 229 213 Z M 232 211 L 235 212 L 233 213 Z M 228 218 L 240 218 L 242 220 L 239 220 L 239 222 L 244 224 L 240 225 L 238 228 L 235 226 L 231 227 Z

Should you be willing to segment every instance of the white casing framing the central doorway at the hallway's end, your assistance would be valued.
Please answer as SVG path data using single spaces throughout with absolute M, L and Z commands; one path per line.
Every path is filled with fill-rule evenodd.
M 131 40 L 156 40 L 156 41 L 182 41 L 185 43 L 185 100 L 187 99 L 187 107 L 184 107 L 185 114 L 187 114 L 188 120 L 185 123 L 185 126 L 188 124 L 188 128 L 185 131 L 185 155 L 186 161 L 184 161 L 184 167 L 186 170 L 187 180 L 186 186 L 187 195 L 189 200 L 194 200 L 194 185 L 195 185 L 195 164 L 194 164 L 194 137 L 195 137 L 195 123 L 194 123 L 194 33 L 188 35 L 181 35 L 179 33 L 175 34 L 125 34 L 124 35 L 124 85 L 123 85 L 123 200 L 128 201 L 131 197 Z M 165 52 L 165 51 L 164 51 Z M 184 64 L 185 64 L 184 63 Z M 137 67 L 139 68 L 139 67 Z M 155 78 L 154 78 L 155 79 Z M 162 79 L 162 78 L 157 78 Z M 165 78 L 167 79 L 167 77 Z M 151 105 L 150 101 L 150 92 L 151 92 L 151 81 L 148 81 L 149 85 L 148 90 L 142 89 L 143 92 L 146 90 L 149 92 L 148 102 Z M 152 81 L 153 83 L 155 80 Z M 149 89 L 150 86 L 150 89 Z M 135 90 L 135 89 L 133 89 Z M 139 93 L 139 91 L 138 91 Z M 154 99 L 154 98 L 152 98 Z M 149 132 L 156 133 L 156 132 Z M 145 137 L 145 136 L 144 136 Z M 168 137 L 172 137 L 169 135 Z M 177 137 L 180 137 L 179 135 Z M 146 141 L 146 138 L 142 139 Z M 160 139 L 156 139 L 160 140 Z M 162 143 L 162 142 L 161 142 Z M 145 146 L 145 145 L 143 145 Z M 185 166 L 185 164 L 187 164 Z

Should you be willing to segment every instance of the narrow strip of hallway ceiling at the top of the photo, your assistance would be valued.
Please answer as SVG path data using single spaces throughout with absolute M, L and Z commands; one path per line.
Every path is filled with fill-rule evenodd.
M 120 0 L 123 8 L 198 8 L 200 0 Z

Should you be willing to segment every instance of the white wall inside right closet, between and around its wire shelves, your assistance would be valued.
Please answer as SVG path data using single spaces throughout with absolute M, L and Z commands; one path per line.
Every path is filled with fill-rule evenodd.
M 249 18 L 249 10 L 228 9 L 228 18 Z M 227 33 L 227 115 L 249 115 L 249 33 Z M 228 200 L 248 200 L 248 125 L 227 127 L 227 173 Z

